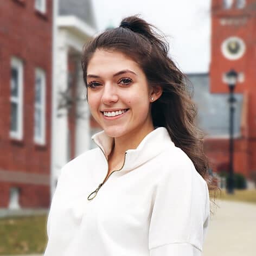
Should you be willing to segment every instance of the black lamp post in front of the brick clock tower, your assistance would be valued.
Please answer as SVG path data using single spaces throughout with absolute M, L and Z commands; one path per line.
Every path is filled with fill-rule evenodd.
M 226 80 L 229 87 L 229 176 L 227 178 L 227 193 L 234 194 L 234 112 L 235 112 L 235 97 L 234 97 L 234 89 L 236 85 L 236 81 L 238 79 L 238 73 L 231 69 L 226 73 Z

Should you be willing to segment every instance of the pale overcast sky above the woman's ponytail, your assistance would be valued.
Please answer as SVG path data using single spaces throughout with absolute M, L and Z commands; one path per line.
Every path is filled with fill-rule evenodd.
M 209 71 L 210 0 L 95 0 L 98 29 L 117 27 L 123 17 L 141 14 L 167 34 L 172 59 L 185 73 Z

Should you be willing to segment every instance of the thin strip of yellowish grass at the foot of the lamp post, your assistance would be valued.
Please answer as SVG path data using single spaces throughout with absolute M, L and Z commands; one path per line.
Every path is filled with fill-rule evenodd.
M 256 203 L 256 189 L 235 189 L 234 194 L 227 194 L 226 189 L 221 189 L 221 193 L 216 193 L 216 199 Z

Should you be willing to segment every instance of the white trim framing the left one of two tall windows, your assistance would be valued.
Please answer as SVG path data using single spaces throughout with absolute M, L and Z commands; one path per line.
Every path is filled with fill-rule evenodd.
M 10 104 L 12 102 L 18 104 L 17 113 L 17 131 L 10 130 L 10 137 L 14 139 L 21 140 L 23 138 L 23 63 L 17 57 L 11 58 L 11 68 L 16 68 L 18 70 L 18 97 L 13 97 L 10 95 Z M 10 79 L 11 83 L 11 79 Z

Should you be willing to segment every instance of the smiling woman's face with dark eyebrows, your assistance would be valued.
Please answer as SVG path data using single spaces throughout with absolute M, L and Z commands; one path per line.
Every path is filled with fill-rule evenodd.
M 92 116 L 108 136 L 132 135 L 152 126 L 154 95 L 144 72 L 129 57 L 97 49 L 88 63 L 87 85 Z

